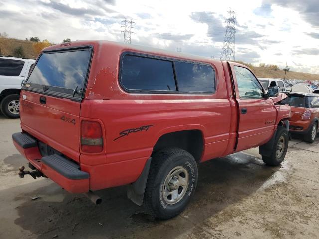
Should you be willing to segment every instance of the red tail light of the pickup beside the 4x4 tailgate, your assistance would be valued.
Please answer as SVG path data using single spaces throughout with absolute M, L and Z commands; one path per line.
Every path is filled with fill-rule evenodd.
M 102 152 L 103 134 L 101 124 L 99 122 L 82 120 L 81 149 L 86 153 Z

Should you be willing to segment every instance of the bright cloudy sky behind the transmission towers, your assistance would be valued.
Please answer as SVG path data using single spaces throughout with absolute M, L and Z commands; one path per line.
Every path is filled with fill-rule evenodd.
M 318 0 L 0 0 L 0 32 L 122 42 L 127 17 L 136 22 L 133 44 L 219 58 L 229 7 L 238 21 L 235 60 L 281 68 L 287 61 L 319 74 Z

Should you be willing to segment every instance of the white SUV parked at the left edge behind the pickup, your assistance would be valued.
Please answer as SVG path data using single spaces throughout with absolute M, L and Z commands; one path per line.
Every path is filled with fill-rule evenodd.
M 20 89 L 35 60 L 0 56 L 0 110 L 8 118 L 20 116 Z

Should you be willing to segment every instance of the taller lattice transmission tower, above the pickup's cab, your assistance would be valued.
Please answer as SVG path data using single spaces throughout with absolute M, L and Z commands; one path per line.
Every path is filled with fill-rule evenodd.
M 227 26 L 225 28 L 224 44 L 220 55 L 220 59 L 225 61 L 229 61 L 231 58 L 235 60 L 235 25 L 237 24 L 237 20 L 234 11 L 229 10 L 228 13 L 229 17 L 226 19 Z

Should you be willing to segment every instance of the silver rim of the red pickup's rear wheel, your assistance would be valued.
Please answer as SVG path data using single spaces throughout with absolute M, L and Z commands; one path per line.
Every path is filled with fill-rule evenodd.
M 178 203 L 186 194 L 189 184 L 189 173 L 183 166 L 170 170 L 165 178 L 162 195 L 167 204 Z

